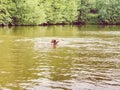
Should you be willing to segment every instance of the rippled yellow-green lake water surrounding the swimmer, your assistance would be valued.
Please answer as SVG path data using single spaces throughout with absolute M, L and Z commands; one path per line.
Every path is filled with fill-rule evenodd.
M 0 90 L 120 90 L 120 26 L 0 28 Z

